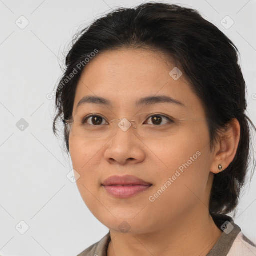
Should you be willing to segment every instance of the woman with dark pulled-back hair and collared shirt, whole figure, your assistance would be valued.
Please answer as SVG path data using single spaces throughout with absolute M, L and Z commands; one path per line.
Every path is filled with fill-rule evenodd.
M 80 194 L 109 228 L 79 256 L 256 254 L 226 215 L 250 149 L 237 52 L 197 11 L 165 3 L 77 35 L 53 130 L 62 118 Z

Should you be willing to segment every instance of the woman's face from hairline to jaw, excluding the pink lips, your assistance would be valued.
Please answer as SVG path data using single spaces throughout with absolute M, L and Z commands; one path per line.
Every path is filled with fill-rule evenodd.
M 174 67 L 162 52 L 124 48 L 99 52 L 79 79 L 74 125 L 91 113 L 102 119 L 87 119 L 86 134 L 91 136 L 73 132 L 73 126 L 69 150 L 85 204 L 109 229 L 160 230 L 208 205 L 213 175 L 205 112 L 185 75 L 178 78 Z M 84 96 L 101 97 L 110 104 L 94 101 L 77 107 Z M 136 105 L 141 98 L 157 96 L 171 97 L 180 104 L 147 100 Z M 117 126 L 119 121 L 108 122 L 122 118 L 139 121 L 138 129 L 131 126 L 124 131 Z M 117 128 L 105 136 L 109 125 Z M 133 175 L 151 185 L 133 195 L 115 196 L 102 185 L 112 175 Z

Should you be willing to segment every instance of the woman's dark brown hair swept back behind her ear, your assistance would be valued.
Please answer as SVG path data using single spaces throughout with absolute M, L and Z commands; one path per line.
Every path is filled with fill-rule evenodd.
M 228 213 L 235 209 L 249 168 L 249 122 L 254 129 L 255 126 L 245 114 L 246 87 L 236 46 L 194 9 L 150 2 L 114 10 L 81 30 L 73 39 L 66 56 L 66 70 L 56 90 L 54 134 L 57 134 L 57 119 L 71 118 L 85 59 L 91 58 L 95 49 L 100 54 L 120 47 L 151 47 L 174 58 L 206 110 L 211 149 L 221 129 L 233 118 L 239 121 L 241 130 L 236 155 L 226 169 L 215 174 L 209 204 L 210 212 Z M 74 70 L 76 74 L 67 79 Z M 68 137 L 64 127 L 69 152 Z

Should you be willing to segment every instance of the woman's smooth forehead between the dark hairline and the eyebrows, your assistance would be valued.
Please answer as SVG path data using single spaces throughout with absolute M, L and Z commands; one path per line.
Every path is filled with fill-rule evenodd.
M 174 61 L 159 50 L 118 49 L 99 52 L 84 67 L 77 84 L 74 111 L 87 95 L 109 99 L 112 107 L 136 107 L 146 96 L 166 95 L 188 107 L 198 108 L 199 99 L 185 75 L 170 76 Z

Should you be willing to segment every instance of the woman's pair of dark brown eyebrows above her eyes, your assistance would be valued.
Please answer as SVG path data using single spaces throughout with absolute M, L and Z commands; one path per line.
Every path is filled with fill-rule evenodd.
M 93 103 L 93 104 L 101 104 L 105 106 L 111 107 L 111 101 L 97 96 L 84 96 L 77 104 L 76 107 L 85 104 L 85 103 Z M 144 98 L 140 98 L 135 102 L 136 107 L 139 107 L 141 105 L 153 105 L 157 103 L 174 103 L 180 106 L 185 106 L 182 102 L 169 97 L 165 95 L 159 95 L 159 96 L 148 96 Z

